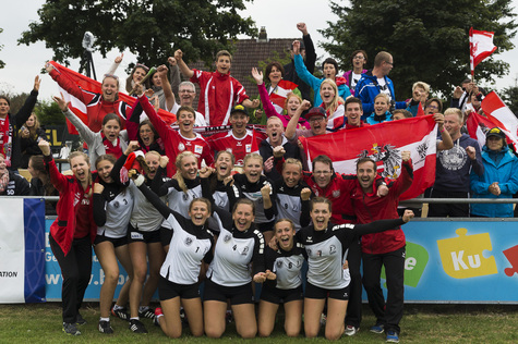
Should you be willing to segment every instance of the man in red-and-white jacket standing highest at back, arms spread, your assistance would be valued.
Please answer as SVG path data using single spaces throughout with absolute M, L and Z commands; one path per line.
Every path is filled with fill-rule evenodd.
M 216 54 L 216 72 L 213 73 L 191 70 L 182 58 L 182 51 L 177 50 L 174 59 L 182 74 L 191 82 L 200 84 L 197 111 L 205 116 L 208 125 L 227 125 L 230 110 L 236 103 L 252 109 L 258 107 L 260 100 L 250 100 L 243 85 L 230 76 L 232 56 L 227 50 L 220 50 Z

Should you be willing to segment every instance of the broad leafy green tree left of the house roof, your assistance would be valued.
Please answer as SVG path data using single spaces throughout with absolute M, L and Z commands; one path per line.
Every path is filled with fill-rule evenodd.
M 251 0 L 47 0 L 40 22 L 29 24 L 19 44 L 45 40 L 53 59 L 68 63 L 83 56 L 89 30 L 104 57 L 129 48 L 140 63 L 158 65 L 182 49 L 189 61 L 210 63 L 218 50 L 231 50 L 237 35 L 255 35 L 252 19 L 237 12 L 244 1 Z

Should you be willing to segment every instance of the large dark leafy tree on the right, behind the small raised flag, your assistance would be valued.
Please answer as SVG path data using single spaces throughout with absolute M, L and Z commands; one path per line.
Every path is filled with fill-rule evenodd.
M 469 28 L 495 33 L 498 50 L 475 69 L 475 81 L 494 83 L 509 64 L 496 53 L 514 48 L 516 14 L 511 0 L 350 0 L 351 7 L 332 2 L 339 20 L 322 29 L 332 42 L 322 45 L 349 70 L 352 51 L 363 49 L 372 67 L 374 57 L 385 50 L 394 57 L 389 77 L 397 100 L 411 96 L 411 85 L 423 81 L 434 93 L 450 95 L 469 73 Z

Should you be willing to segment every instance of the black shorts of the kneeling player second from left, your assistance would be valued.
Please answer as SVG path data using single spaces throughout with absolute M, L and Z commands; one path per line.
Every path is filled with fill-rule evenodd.
M 253 304 L 252 283 L 240 286 L 222 286 L 210 280 L 205 280 L 203 300 L 219 300 L 226 303 L 230 299 L 231 305 Z

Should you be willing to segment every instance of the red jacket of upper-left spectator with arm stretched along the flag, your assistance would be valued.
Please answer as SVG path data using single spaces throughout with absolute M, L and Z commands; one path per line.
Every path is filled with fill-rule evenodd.
M 72 79 L 60 74 L 56 69 L 50 72 L 50 76 L 58 83 L 64 90 L 71 96 L 74 96 L 86 106 L 86 114 L 88 115 L 88 122 L 86 125 L 97 133 L 103 126 L 103 119 L 108 113 L 116 113 L 121 118 L 122 127 L 125 127 L 127 112 L 131 107 L 124 101 L 117 99 L 113 102 L 105 101 L 101 94 L 92 93 L 77 86 Z M 92 161 L 94 163 L 95 161 Z

